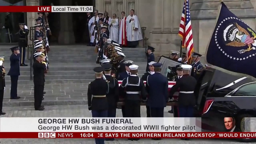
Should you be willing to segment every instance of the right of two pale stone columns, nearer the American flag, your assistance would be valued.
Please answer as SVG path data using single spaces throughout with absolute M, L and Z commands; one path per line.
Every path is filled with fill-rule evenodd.
M 160 1 L 160 0 L 159 0 Z M 163 0 L 163 31 L 170 32 L 171 31 L 171 0 Z

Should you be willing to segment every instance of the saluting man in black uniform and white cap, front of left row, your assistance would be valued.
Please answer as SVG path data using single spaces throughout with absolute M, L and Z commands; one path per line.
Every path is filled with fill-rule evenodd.
M 42 106 L 43 92 L 44 92 L 44 69 L 46 68 L 46 62 L 43 61 L 43 53 L 38 52 L 34 54 L 35 61 L 33 63 L 34 74 L 34 107 L 35 110 L 44 110 Z

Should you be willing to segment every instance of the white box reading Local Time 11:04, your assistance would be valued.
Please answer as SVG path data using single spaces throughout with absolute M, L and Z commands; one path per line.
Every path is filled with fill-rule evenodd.
M 51 6 L 51 12 L 93 12 L 93 6 Z

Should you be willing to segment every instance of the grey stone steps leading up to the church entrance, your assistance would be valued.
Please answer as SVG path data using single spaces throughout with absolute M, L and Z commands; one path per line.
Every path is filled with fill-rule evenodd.
M 11 46 L 1 46 L 0 56 L 5 56 L 3 66 L 6 73 L 10 69 L 9 57 Z M 140 77 L 146 70 L 147 59 L 144 48 L 123 48 L 125 60 L 133 60 L 139 66 Z M 49 71 L 46 74 L 43 105 L 74 105 L 87 104 L 88 82 L 95 78 L 93 68 L 96 64 L 94 47 L 88 46 L 51 46 L 48 54 Z M 25 60 L 29 65 L 29 61 Z M 30 81 L 30 66 L 20 67 L 21 75 L 18 81 L 19 100 L 10 100 L 10 76 L 6 78 L 4 91 L 4 106 L 33 106 L 34 83 Z M 33 76 L 33 75 L 32 75 Z

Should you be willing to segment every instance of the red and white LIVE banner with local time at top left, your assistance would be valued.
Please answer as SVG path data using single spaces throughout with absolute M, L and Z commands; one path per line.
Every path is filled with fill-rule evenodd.
M 0 12 L 93 12 L 93 6 L 0 6 Z

